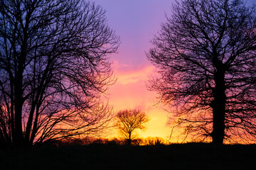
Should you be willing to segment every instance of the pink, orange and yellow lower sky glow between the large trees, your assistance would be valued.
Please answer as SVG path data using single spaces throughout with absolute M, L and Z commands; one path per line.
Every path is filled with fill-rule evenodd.
M 144 64 L 134 68 L 129 64 L 120 64 L 114 61 L 112 65 L 117 82 L 110 87 L 110 105 L 114 111 L 124 109 L 141 109 L 149 115 L 150 121 L 146 124 L 146 130 L 137 130 L 139 137 L 169 138 L 171 128 L 166 125 L 167 114 L 163 108 L 156 107 L 156 93 L 146 89 L 148 77 L 155 74 L 154 66 Z M 114 137 L 117 137 L 114 134 Z

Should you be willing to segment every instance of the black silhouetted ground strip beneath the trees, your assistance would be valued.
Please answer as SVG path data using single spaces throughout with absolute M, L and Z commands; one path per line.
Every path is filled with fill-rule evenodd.
M 256 145 L 87 145 L 1 149 L 0 169 L 255 169 Z

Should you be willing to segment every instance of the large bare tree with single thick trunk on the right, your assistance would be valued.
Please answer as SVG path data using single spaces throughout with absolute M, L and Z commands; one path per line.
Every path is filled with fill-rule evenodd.
M 182 0 L 166 18 L 147 54 L 160 74 L 149 89 L 170 106 L 176 126 L 215 144 L 255 139 L 255 8 Z

